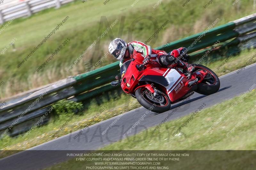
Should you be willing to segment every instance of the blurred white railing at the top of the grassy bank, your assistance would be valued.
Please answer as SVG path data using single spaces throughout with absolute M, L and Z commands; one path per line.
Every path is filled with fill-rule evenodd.
M 45 9 L 60 8 L 72 1 L 74 0 L 3 0 L 0 4 L 0 24 L 13 18 L 31 16 Z

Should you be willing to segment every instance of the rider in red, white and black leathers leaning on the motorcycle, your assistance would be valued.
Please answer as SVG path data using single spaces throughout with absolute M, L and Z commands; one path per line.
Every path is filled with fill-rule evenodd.
M 132 55 L 137 55 L 137 53 L 140 53 L 144 56 L 144 64 L 149 60 L 156 61 L 160 64 L 160 66 L 185 69 L 188 74 L 195 69 L 191 64 L 180 60 L 180 58 L 189 57 L 187 54 L 188 49 L 184 47 L 174 49 L 170 55 L 168 55 L 165 51 L 151 49 L 150 46 L 140 41 L 132 41 L 127 44 L 124 40 L 116 38 L 110 42 L 108 50 L 116 59 L 120 60 L 120 67 L 124 62 L 131 60 Z M 130 54 L 131 51 L 133 54 Z

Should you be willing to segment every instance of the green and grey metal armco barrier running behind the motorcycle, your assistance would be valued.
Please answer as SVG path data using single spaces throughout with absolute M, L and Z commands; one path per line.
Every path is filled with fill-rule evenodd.
M 188 48 L 203 33 L 205 35 L 201 36 L 193 47 L 190 46 L 191 48 L 188 51 L 194 61 L 196 57 L 202 56 L 209 50 L 216 41 L 220 41 L 220 43 L 214 48 L 214 51 L 227 51 L 225 55 L 228 55 L 228 51 L 244 42 L 246 42 L 245 48 L 255 48 L 255 21 L 256 13 L 155 49 L 168 52 L 179 47 Z M 44 115 L 45 111 L 53 103 L 59 100 L 85 101 L 103 93 L 106 94 L 120 89 L 118 86 L 113 87 L 110 85 L 110 82 L 115 80 L 115 76 L 118 74 L 120 74 L 119 62 L 115 62 L 91 72 L 68 78 L 65 81 L 37 91 L 16 103 L 8 104 L 0 109 L 0 137 L 2 133 L 15 136 L 30 129 L 37 122 L 37 119 Z M 30 108 L 32 104 L 33 107 Z M 24 114 L 24 112 L 26 113 Z M 47 123 L 48 120 L 49 115 L 47 115 L 42 124 Z M 9 128 L 11 126 L 12 128 Z M 6 131 L 8 128 L 9 130 Z

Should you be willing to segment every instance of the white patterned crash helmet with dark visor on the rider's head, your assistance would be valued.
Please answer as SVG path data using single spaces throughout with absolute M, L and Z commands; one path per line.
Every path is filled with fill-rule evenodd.
M 124 58 L 125 50 L 127 48 L 127 43 L 120 39 L 116 38 L 111 41 L 108 50 L 117 60 L 122 60 Z

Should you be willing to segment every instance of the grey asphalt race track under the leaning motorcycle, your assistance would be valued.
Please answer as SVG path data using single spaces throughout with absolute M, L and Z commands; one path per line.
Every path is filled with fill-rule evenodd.
M 245 70 L 242 70 L 239 74 L 235 71 L 227 75 L 220 77 L 220 90 L 219 92 L 212 94 L 210 96 L 200 95 L 195 93 L 188 101 L 183 104 L 179 110 L 173 114 L 168 121 L 176 119 L 180 116 L 188 115 L 189 113 L 195 112 L 198 107 L 203 103 L 206 107 L 210 107 L 214 104 L 220 103 L 222 101 L 233 98 L 234 96 L 240 95 L 245 91 L 249 90 L 254 83 L 256 83 L 256 64 L 247 66 Z M 172 109 L 178 107 L 178 104 L 172 105 Z M 58 152 L 51 151 L 51 156 L 47 150 L 96 150 L 104 145 L 118 141 L 122 138 L 123 134 L 132 127 L 132 125 L 137 122 L 143 114 L 146 113 L 146 109 L 140 107 L 138 109 L 132 110 L 122 115 L 122 117 L 115 123 L 111 129 L 104 135 L 101 133 L 116 119 L 113 117 L 106 121 L 97 123 L 85 129 L 79 137 L 74 139 L 78 133 L 72 132 L 69 135 L 54 139 L 52 141 L 46 142 L 44 144 L 35 146 L 29 150 L 43 150 L 43 151 L 23 151 L 17 154 L 11 155 L 9 157 L 0 159 L 0 169 L 43 169 L 45 167 L 51 166 L 60 161 L 66 160 L 65 154 L 62 156 L 56 156 Z M 162 113 L 149 113 L 140 124 L 132 129 L 128 136 L 134 135 L 141 130 L 148 127 L 155 126 L 159 124 L 172 110 Z M 193 122 L 192 122 L 193 123 Z M 164 125 L 160 130 L 164 130 Z M 207 130 L 207 129 L 205 129 Z M 173 129 L 174 131 L 174 129 Z M 171 132 L 170 138 L 172 137 Z M 146 134 L 147 133 L 147 134 Z M 150 131 L 146 130 L 145 135 L 151 135 Z M 133 139 L 129 138 L 132 142 Z M 161 139 L 164 140 L 164 139 Z M 164 148 L 163 148 L 164 149 Z M 67 153 L 68 151 L 65 151 Z M 39 154 L 40 153 L 40 154 Z M 56 153 L 56 154 L 54 154 Z M 60 154 L 60 152 L 58 153 Z M 40 168 L 39 168 L 40 167 Z

